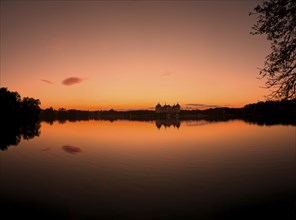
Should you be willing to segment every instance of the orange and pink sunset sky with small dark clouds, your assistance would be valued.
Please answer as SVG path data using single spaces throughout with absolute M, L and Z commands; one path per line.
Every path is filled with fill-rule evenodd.
M 260 2 L 1 1 L 1 87 L 56 109 L 262 101 Z

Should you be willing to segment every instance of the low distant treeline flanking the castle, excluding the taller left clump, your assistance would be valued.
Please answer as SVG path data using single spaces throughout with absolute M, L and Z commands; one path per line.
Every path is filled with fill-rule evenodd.
M 55 120 L 79 121 L 79 120 L 156 120 L 166 118 L 166 114 L 156 114 L 154 110 L 134 111 L 81 111 L 66 110 L 60 108 L 55 110 L 47 108 L 41 111 L 40 118 L 52 123 Z M 266 101 L 248 104 L 243 108 L 210 108 L 206 110 L 181 110 L 178 119 L 180 120 L 226 120 L 226 119 L 247 119 L 248 121 L 260 119 L 290 120 L 296 117 L 296 100 Z

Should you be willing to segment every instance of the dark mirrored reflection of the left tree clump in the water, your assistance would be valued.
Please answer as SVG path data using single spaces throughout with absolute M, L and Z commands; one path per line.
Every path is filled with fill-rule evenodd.
M 40 122 L 37 120 L 1 121 L 0 149 L 17 146 L 21 139 L 29 140 L 40 135 Z

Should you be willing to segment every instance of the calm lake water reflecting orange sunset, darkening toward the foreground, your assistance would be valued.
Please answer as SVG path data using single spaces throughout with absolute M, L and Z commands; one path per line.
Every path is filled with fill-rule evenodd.
M 238 120 L 160 129 L 155 122 L 41 123 L 39 137 L 0 151 L 1 212 L 294 219 L 295 141 L 295 126 Z

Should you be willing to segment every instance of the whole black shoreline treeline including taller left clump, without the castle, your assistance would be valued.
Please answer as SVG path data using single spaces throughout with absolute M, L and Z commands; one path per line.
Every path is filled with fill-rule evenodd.
M 28 118 L 40 118 L 43 121 L 52 123 L 55 120 L 60 122 L 79 120 L 155 120 L 164 115 L 156 114 L 154 110 L 133 110 L 133 111 L 84 111 L 60 108 L 58 110 L 47 108 L 40 109 L 38 99 L 21 96 L 17 92 L 10 92 L 7 88 L 0 89 L 0 117 L 2 119 L 23 120 Z M 224 119 L 285 119 L 296 118 L 296 99 L 282 101 L 266 101 L 248 104 L 243 108 L 210 108 L 206 110 L 181 110 L 178 119 L 180 120 L 224 120 Z

